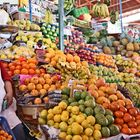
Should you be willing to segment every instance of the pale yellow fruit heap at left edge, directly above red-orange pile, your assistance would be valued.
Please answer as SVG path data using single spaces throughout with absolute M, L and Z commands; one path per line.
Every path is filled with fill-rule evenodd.
M 35 53 L 33 49 L 25 46 L 16 46 L 13 45 L 10 48 L 0 50 L 0 59 L 6 60 L 6 59 L 18 59 L 19 57 L 33 57 L 35 56 Z

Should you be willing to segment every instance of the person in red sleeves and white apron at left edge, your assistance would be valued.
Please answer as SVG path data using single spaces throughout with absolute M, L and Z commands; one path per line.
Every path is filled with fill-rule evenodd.
M 4 101 L 7 101 L 7 108 L 3 108 Z M 8 75 L 0 61 L 0 116 L 7 119 L 16 140 L 26 140 L 23 125 L 15 111 L 16 101 L 13 98 L 11 77 Z

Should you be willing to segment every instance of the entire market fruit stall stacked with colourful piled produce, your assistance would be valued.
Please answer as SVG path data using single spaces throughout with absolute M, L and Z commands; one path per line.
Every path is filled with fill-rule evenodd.
M 139 26 L 135 37 L 122 28 L 125 2 L 60 2 L 24 0 L 14 14 L 0 11 L 0 61 L 18 117 L 38 140 L 140 139 Z M 118 22 L 121 33 L 110 34 Z M 0 137 L 11 139 L 5 131 Z

